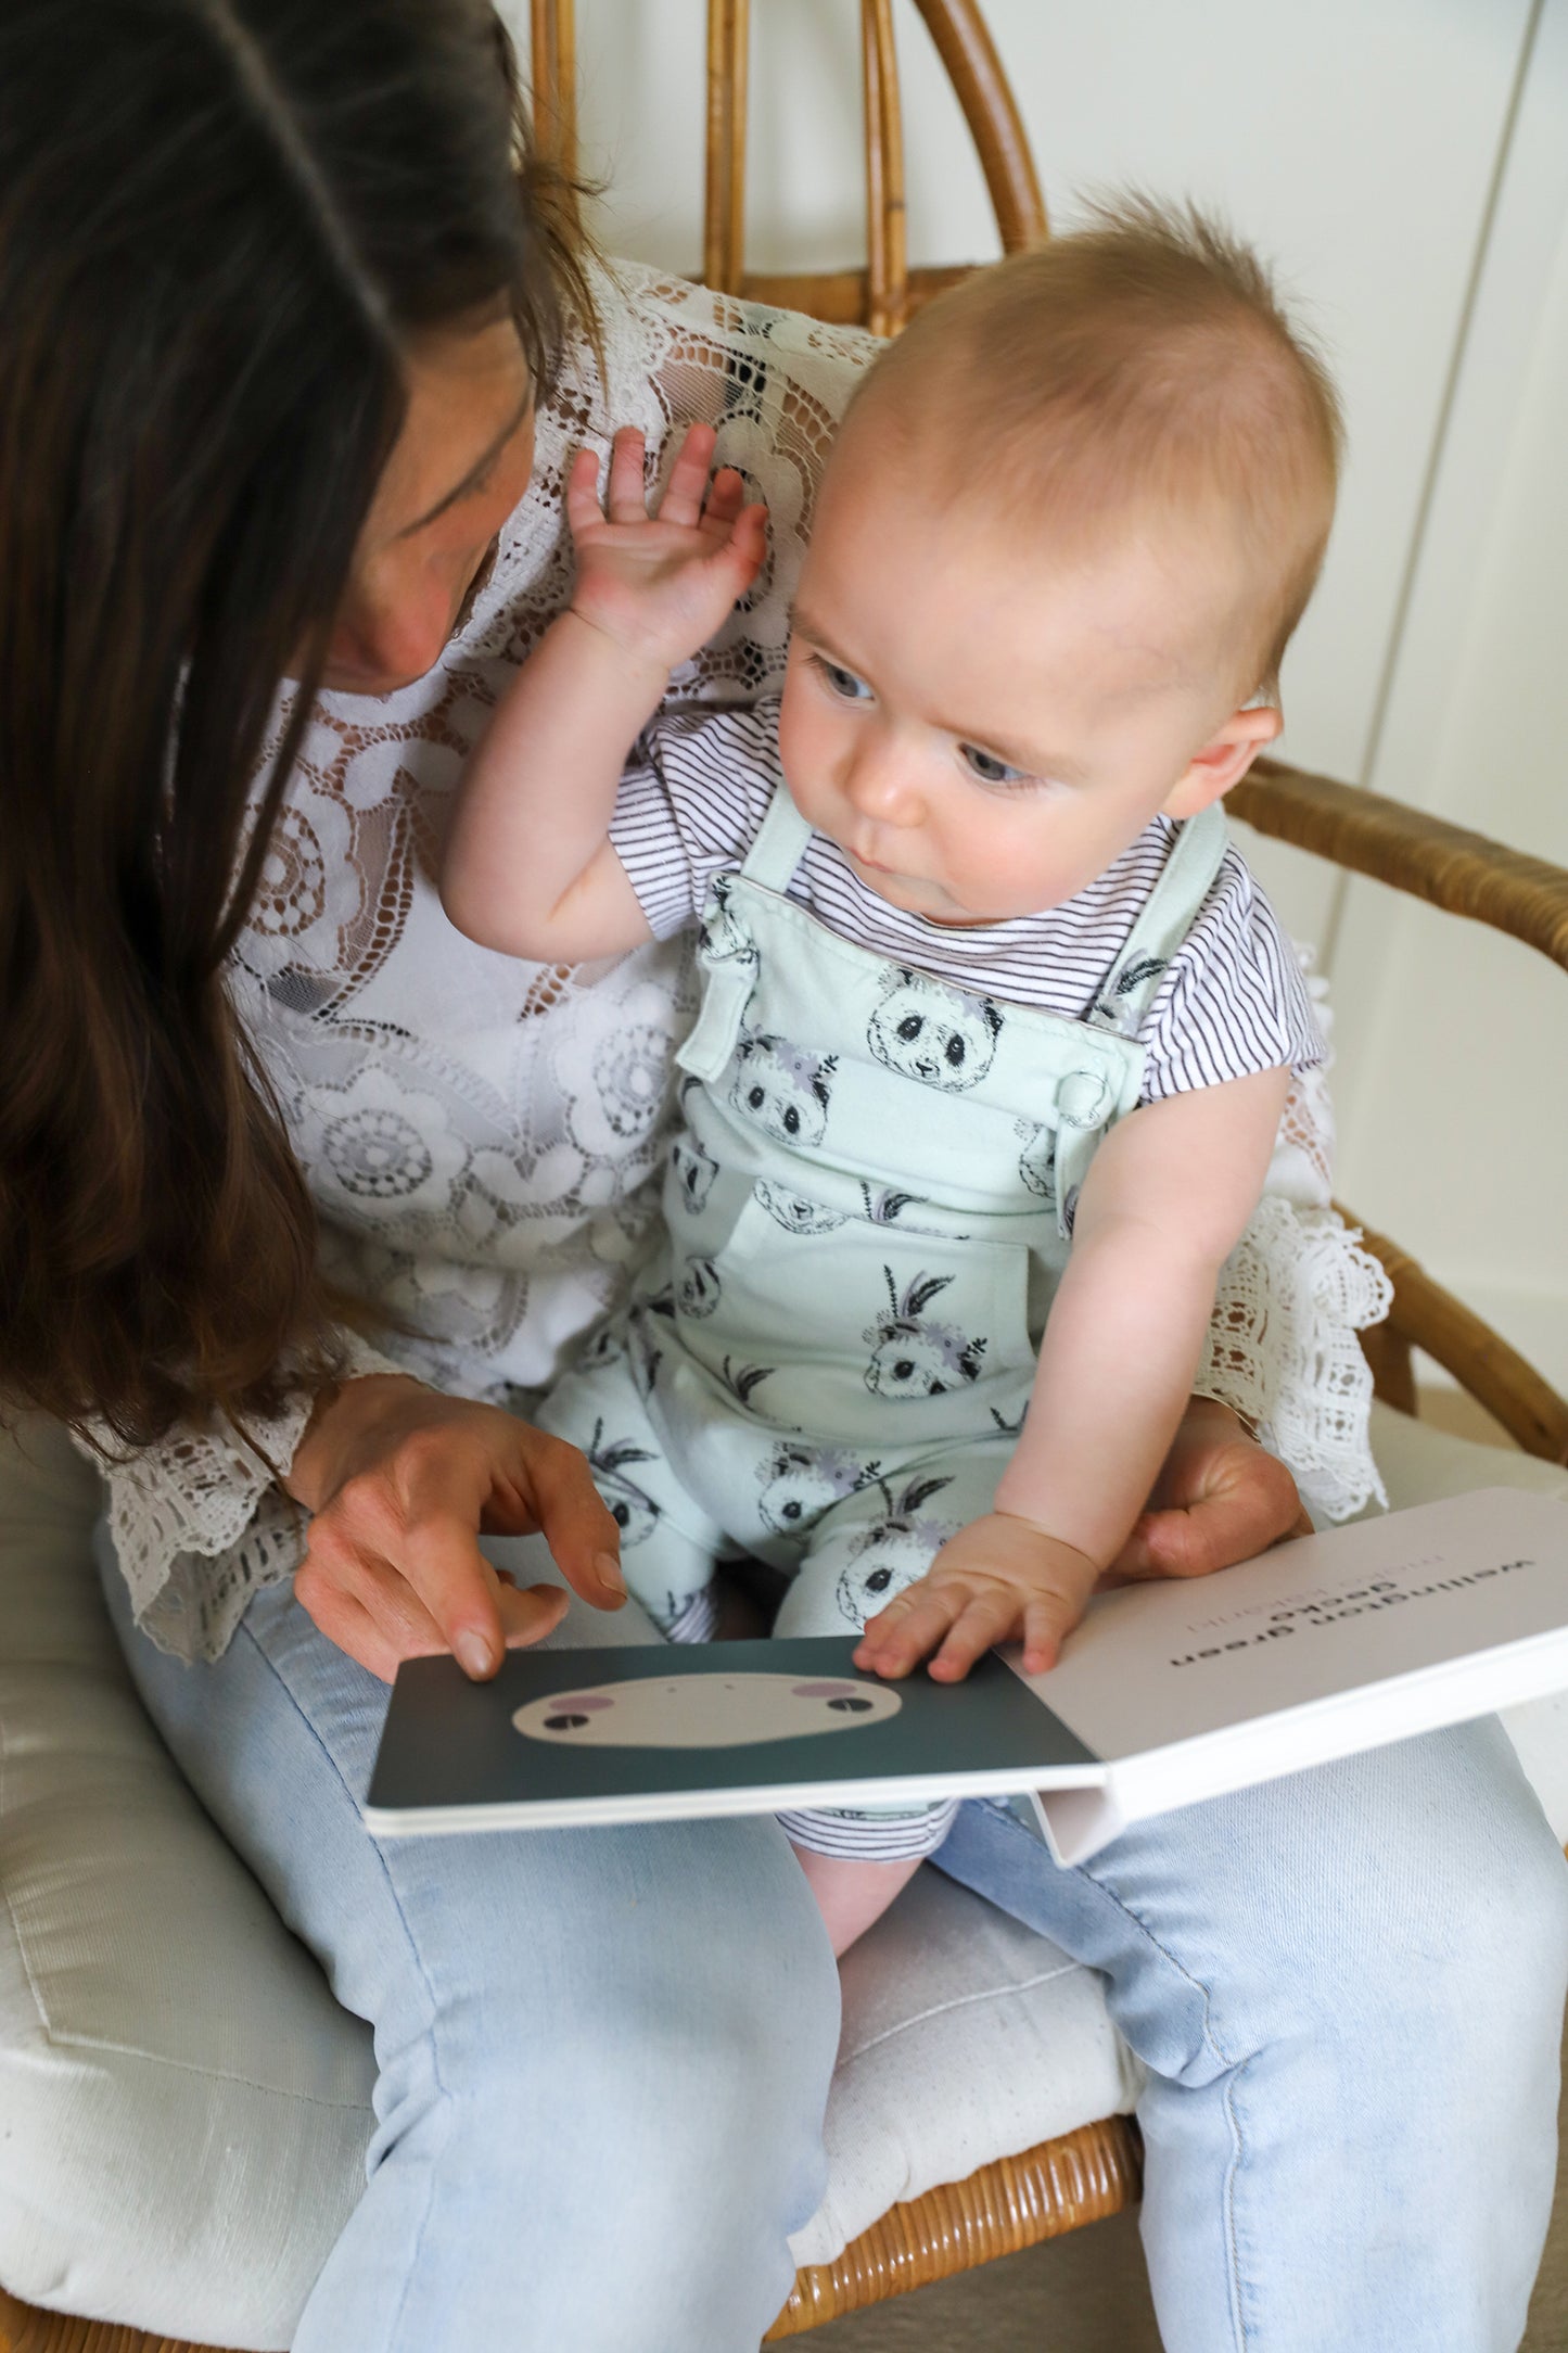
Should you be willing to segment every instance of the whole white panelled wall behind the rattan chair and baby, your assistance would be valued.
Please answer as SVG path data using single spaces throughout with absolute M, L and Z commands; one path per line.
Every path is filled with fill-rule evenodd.
M 914 9 L 896 14 L 912 256 L 983 259 L 961 118 Z M 689 271 L 703 19 L 703 0 L 578 0 L 609 242 Z M 860 259 L 858 9 L 757 0 L 752 19 L 748 259 Z M 987 21 L 1058 226 L 1126 181 L 1218 205 L 1328 346 L 1352 459 L 1286 668 L 1286 753 L 1568 864 L 1568 0 L 987 0 Z M 1248 852 L 1335 979 L 1345 1198 L 1568 1388 L 1568 981 L 1314 859 Z

